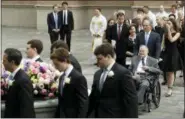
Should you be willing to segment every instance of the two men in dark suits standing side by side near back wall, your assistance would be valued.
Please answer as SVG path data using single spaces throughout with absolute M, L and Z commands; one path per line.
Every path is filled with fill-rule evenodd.
M 51 44 L 59 39 L 65 40 L 71 49 L 71 33 L 74 29 L 74 19 L 72 11 L 68 10 L 68 3 L 62 3 L 63 9 L 60 11 L 59 5 L 53 6 L 53 12 L 47 16 L 48 33 L 50 35 Z

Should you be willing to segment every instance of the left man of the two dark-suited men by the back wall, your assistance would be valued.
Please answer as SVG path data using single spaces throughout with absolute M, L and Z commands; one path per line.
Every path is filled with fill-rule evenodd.
M 47 16 L 47 24 L 48 24 L 48 33 L 50 35 L 51 44 L 54 41 L 58 40 L 60 29 L 61 29 L 61 17 L 58 14 L 59 6 L 53 6 L 53 12 L 49 13 Z

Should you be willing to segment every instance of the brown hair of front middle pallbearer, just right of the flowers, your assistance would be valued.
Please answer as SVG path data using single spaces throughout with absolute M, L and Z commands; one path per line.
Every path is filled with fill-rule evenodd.
M 64 48 L 58 48 L 56 49 L 51 55 L 50 59 L 57 59 L 60 62 L 67 62 L 70 63 L 69 60 L 69 53 L 66 49 Z

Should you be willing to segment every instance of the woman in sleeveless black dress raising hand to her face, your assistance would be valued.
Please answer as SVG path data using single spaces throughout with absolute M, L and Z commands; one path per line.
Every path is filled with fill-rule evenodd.
M 181 69 L 181 59 L 177 48 L 180 39 L 180 31 L 177 22 L 169 19 L 165 25 L 167 33 L 165 34 L 165 51 L 164 51 L 164 71 L 167 76 L 168 91 L 166 97 L 172 95 L 172 87 L 174 83 L 174 72 Z

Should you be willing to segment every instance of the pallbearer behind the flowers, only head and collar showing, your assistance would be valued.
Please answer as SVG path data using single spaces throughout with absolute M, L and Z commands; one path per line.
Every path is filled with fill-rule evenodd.
M 27 58 L 36 62 L 43 62 L 40 58 L 40 54 L 43 50 L 43 43 L 40 40 L 33 39 L 27 42 L 26 54 Z

